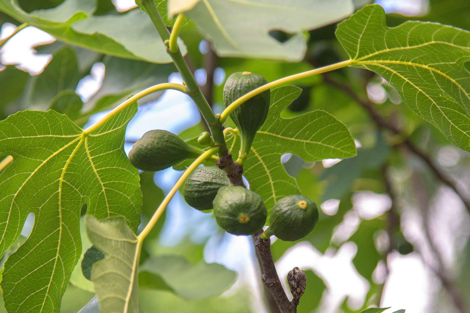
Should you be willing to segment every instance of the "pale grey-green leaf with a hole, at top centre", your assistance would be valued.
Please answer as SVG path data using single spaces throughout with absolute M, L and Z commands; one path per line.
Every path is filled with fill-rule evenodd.
M 189 3 L 188 3 L 189 2 Z M 306 51 L 302 31 L 335 22 L 353 12 L 345 0 L 171 1 L 171 13 L 185 14 L 213 41 L 220 56 L 300 61 Z M 193 7 L 194 5 L 194 7 Z M 293 34 L 279 42 L 270 31 Z

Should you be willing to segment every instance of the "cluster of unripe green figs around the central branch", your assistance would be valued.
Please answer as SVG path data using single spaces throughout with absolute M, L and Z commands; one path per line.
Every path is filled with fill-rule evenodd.
M 266 80 L 250 72 L 237 72 L 227 78 L 223 98 L 228 107 L 235 100 L 266 84 Z M 266 121 L 269 110 L 269 90 L 246 100 L 230 117 L 235 122 L 241 138 L 239 159 L 248 157 L 257 131 Z M 203 132 L 199 145 L 214 146 L 211 135 Z M 159 171 L 180 161 L 195 159 L 203 150 L 189 145 L 166 130 L 150 130 L 138 140 L 129 153 L 131 164 L 144 171 Z M 238 160 L 237 160 L 238 161 Z M 241 186 L 230 184 L 226 173 L 218 168 L 196 168 L 186 179 L 183 197 L 188 205 L 201 211 L 213 209 L 217 224 L 234 235 L 253 235 L 266 225 L 268 210 L 261 196 Z M 285 241 L 296 241 L 307 236 L 318 221 L 318 208 L 308 198 L 290 195 L 279 199 L 270 210 L 270 226 L 261 238 L 270 236 Z

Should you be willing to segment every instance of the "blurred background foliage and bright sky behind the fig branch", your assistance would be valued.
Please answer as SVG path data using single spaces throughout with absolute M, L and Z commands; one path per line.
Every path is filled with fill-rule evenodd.
M 18 1 L 25 12 L 62 2 Z M 165 9 L 165 1 L 157 2 Z M 354 1 L 356 8 L 368 2 Z M 470 30 L 468 0 L 375 2 L 389 13 L 389 26 L 422 20 Z M 97 4 L 95 16 L 139 10 L 133 1 Z M 0 13 L 0 24 L 5 38 L 20 23 Z M 190 20 L 180 37 L 204 95 L 221 112 L 223 83 L 233 72 L 250 71 L 272 81 L 347 59 L 335 29 L 331 23 L 305 32 L 305 57 L 294 63 L 220 58 Z M 151 40 L 159 40 L 154 30 L 148 32 Z M 291 36 L 279 30 L 269 35 L 279 42 Z M 52 108 L 84 126 L 145 87 L 180 82 L 172 64 L 104 55 L 55 41 L 33 27 L 18 33 L 0 53 L 0 119 L 24 109 Z M 298 312 L 357 312 L 370 305 L 392 306 L 390 312 L 470 312 L 469 153 L 412 113 L 394 88 L 371 72 L 345 68 L 295 84 L 302 94 L 282 116 L 328 111 L 346 124 L 358 147 L 358 155 L 347 160 L 307 163 L 295 155 L 282 157 L 303 195 L 321 207 L 320 221 L 308 237 L 298 242 L 275 240 L 271 246 L 281 277 L 294 266 L 306 271 L 307 289 Z M 139 105 L 126 133 L 127 152 L 150 129 L 170 130 L 184 139 L 206 130 L 194 105 L 177 92 L 149 96 Z M 179 175 L 171 168 L 141 173 L 143 224 Z M 27 222 L 24 236 L 28 229 Z M 85 252 L 90 244 L 82 233 Z M 259 281 L 251 237 L 223 232 L 211 214 L 188 207 L 180 194 L 144 246 L 139 274 L 142 312 L 276 312 Z M 178 265 L 187 275 L 169 277 L 164 266 L 146 271 L 158 258 L 167 260 L 168 266 Z M 78 312 L 93 296 L 92 284 L 77 267 L 61 312 Z

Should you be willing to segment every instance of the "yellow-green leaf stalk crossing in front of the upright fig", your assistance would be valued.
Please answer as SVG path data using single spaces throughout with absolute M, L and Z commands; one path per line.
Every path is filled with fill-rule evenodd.
M 309 71 L 306 71 L 306 72 L 302 72 L 302 73 L 282 77 L 282 78 L 280 78 L 278 80 L 275 80 L 271 83 L 267 83 L 265 85 L 262 85 L 262 86 L 260 86 L 256 89 L 252 90 L 251 92 L 248 92 L 247 94 L 244 94 L 242 97 L 236 99 L 228 107 L 226 107 L 225 110 L 220 114 L 219 121 L 221 123 L 224 123 L 227 120 L 228 115 L 230 115 L 230 113 L 232 113 L 233 110 L 235 110 L 237 107 L 239 107 L 246 100 L 253 98 L 254 96 L 256 96 L 257 94 L 259 94 L 261 92 L 264 92 L 268 89 L 277 87 L 277 86 L 282 85 L 282 84 L 292 82 L 294 80 L 298 80 L 298 79 L 302 79 L 302 78 L 305 78 L 305 77 L 309 77 L 309 76 L 329 72 L 329 71 L 332 71 L 332 70 L 335 70 L 335 69 L 341 69 L 341 68 L 344 68 L 346 66 L 351 65 L 352 63 L 353 63 L 352 60 L 342 61 L 342 62 L 331 64 L 331 65 L 328 65 L 328 66 L 324 66 L 324 67 L 321 67 L 321 68 L 318 68 L 318 69 L 312 69 L 312 70 L 309 70 Z

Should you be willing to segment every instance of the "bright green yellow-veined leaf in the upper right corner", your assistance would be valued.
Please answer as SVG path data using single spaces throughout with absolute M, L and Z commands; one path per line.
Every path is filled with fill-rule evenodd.
M 407 106 L 452 143 L 470 151 L 470 32 L 437 23 L 389 28 L 384 9 L 368 5 L 338 25 L 353 61 L 387 79 Z

